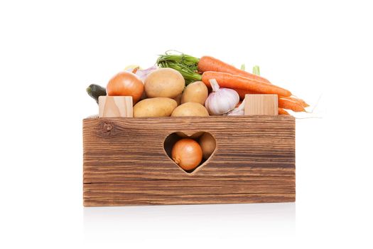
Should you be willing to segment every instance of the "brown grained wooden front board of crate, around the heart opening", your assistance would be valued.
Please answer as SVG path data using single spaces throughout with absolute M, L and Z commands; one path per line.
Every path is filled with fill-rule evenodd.
M 166 155 L 173 132 L 210 132 L 210 161 L 192 174 Z M 287 202 L 296 198 L 295 120 L 276 116 L 83 120 L 85 206 Z

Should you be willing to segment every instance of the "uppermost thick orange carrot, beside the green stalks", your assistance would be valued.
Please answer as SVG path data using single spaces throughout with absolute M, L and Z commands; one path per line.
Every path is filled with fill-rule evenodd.
M 198 61 L 198 70 L 201 73 L 205 73 L 208 71 L 230 73 L 232 75 L 239 75 L 245 78 L 249 78 L 250 80 L 270 83 L 269 80 L 267 80 L 266 78 L 235 68 L 233 65 L 229 65 L 225 62 L 222 62 L 222 60 L 218 60 L 217 58 L 213 58 L 211 56 L 202 56 L 202 58 L 200 58 L 200 60 Z

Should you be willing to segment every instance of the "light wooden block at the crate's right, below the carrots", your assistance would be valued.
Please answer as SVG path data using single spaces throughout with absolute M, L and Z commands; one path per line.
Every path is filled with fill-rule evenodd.
M 245 95 L 244 115 L 279 115 L 279 100 L 277 95 Z

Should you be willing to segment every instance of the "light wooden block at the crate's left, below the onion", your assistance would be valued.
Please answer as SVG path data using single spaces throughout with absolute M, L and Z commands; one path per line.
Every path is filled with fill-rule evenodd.
M 99 117 L 134 117 L 131 96 L 99 96 Z

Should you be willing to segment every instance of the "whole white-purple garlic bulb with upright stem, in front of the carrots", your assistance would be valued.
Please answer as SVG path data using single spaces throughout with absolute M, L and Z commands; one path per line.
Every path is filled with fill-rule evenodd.
M 235 90 L 220 88 L 215 79 L 210 80 L 212 92 L 207 97 L 205 107 L 210 115 L 223 115 L 236 107 L 239 95 Z

